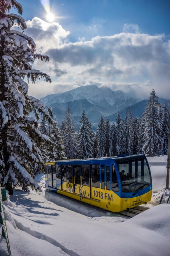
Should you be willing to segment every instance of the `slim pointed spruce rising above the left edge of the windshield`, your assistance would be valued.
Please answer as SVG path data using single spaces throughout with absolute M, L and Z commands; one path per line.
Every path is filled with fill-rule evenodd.
M 123 140 L 122 140 L 122 124 L 121 124 L 121 115 L 118 111 L 117 117 L 116 117 L 116 151 L 117 154 L 120 155 L 122 153 L 123 149 Z

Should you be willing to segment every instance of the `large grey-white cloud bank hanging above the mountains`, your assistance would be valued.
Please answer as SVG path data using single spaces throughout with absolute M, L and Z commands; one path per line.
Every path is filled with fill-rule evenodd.
M 80 41 L 69 42 L 70 32 L 58 23 L 34 18 L 27 26 L 26 34 L 35 40 L 37 53 L 50 57 L 48 64 L 36 61 L 34 65 L 53 81 L 48 89 L 39 90 L 41 95 L 96 84 L 138 98 L 147 98 L 155 89 L 159 97 L 170 98 L 170 40 L 165 35 L 142 34 L 137 25 L 125 24 L 119 34 L 89 41 L 80 36 Z M 95 30 L 95 25 L 91 28 Z M 130 29 L 135 33 L 127 32 Z M 39 81 L 41 85 L 46 86 Z M 31 93 L 36 93 L 33 86 Z

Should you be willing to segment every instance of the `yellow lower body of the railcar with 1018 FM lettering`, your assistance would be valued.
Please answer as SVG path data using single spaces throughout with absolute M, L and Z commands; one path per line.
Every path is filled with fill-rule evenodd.
M 73 199 L 100 207 L 104 210 L 111 212 L 121 212 L 127 208 L 133 208 L 140 204 L 144 204 L 151 200 L 152 190 L 149 192 L 136 196 L 133 198 L 121 198 L 114 191 L 100 188 L 94 188 L 89 186 L 81 186 L 75 184 L 73 189 L 73 183 L 63 182 L 62 187 L 56 190 L 52 188 L 50 181 L 48 180 L 48 185 L 50 186 L 47 189 L 53 190 L 59 194 L 69 196 Z

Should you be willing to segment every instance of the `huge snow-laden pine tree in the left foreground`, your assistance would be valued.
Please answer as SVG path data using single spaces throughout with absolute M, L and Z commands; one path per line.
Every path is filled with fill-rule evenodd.
M 41 113 L 52 121 L 44 103 L 28 95 L 28 84 L 23 80 L 35 83 L 44 78 L 51 82 L 47 74 L 31 66 L 36 59 L 48 62 L 49 58 L 35 54 L 34 41 L 24 34 L 24 19 L 7 13 L 11 7 L 22 15 L 22 6 L 16 0 L 0 0 L 0 183 L 9 194 L 13 185 L 24 190 L 28 186 L 40 189 L 33 175 L 35 168 L 44 164 L 41 141 L 49 138 L 40 133 L 37 120 L 29 114 L 34 111 L 39 119 Z M 11 29 L 14 23 L 23 32 Z

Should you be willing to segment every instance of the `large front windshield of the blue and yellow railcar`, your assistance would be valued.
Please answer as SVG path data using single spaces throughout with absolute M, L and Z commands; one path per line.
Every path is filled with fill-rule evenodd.
M 134 192 L 151 185 L 151 175 L 145 159 L 118 164 L 121 177 L 122 192 Z

